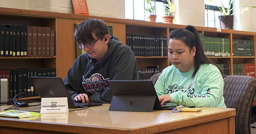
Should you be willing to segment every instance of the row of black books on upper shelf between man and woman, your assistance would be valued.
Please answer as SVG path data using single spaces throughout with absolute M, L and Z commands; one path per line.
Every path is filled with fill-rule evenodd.
M 134 56 L 167 56 L 167 37 L 138 34 L 126 34 L 126 45 Z

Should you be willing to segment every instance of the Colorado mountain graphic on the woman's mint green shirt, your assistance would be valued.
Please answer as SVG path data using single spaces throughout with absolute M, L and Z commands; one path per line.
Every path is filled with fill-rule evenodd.
M 206 95 L 201 95 L 201 94 L 194 94 L 195 93 L 195 88 L 193 88 L 194 83 L 189 83 L 187 87 L 183 86 L 178 86 L 177 84 L 174 85 L 169 85 L 168 88 L 166 89 L 166 94 L 172 94 L 177 91 L 181 91 L 183 93 L 187 93 L 187 97 L 193 98 L 193 97 L 209 97 L 208 94 L 211 93 L 210 88 L 207 89 Z

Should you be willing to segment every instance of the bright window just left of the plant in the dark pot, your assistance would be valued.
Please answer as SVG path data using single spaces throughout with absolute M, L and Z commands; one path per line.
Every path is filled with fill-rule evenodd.
M 223 5 L 224 7 L 228 7 L 229 0 L 222 0 L 224 1 Z M 215 3 L 204 0 L 205 4 L 205 10 L 204 10 L 204 18 L 205 18 L 205 27 L 211 27 L 211 28 L 220 28 L 218 16 L 222 15 L 221 11 L 218 9 L 218 6 L 220 6 L 220 1 L 215 0 Z

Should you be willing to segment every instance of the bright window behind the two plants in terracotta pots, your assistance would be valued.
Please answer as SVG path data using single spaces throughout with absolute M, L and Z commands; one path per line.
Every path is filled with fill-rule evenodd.
M 156 22 L 163 23 L 166 0 L 155 0 L 152 2 L 156 7 L 155 14 L 157 15 Z M 149 15 L 144 9 L 147 8 L 147 3 L 144 0 L 125 0 L 125 19 L 146 20 Z

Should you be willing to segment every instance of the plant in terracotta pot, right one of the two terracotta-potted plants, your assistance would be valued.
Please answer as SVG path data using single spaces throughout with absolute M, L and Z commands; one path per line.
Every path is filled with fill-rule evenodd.
M 175 3 L 173 4 L 171 0 L 166 0 L 168 4 L 164 4 L 166 7 L 165 16 L 163 17 L 164 23 L 173 23 L 175 17 Z

